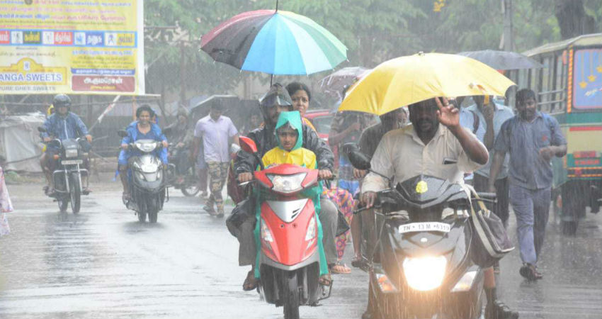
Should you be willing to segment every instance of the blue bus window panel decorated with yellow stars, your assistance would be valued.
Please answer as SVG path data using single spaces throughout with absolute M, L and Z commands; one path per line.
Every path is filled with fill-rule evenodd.
M 602 48 L 575 52 L 573 106 L 580 110 L 602 108 Z

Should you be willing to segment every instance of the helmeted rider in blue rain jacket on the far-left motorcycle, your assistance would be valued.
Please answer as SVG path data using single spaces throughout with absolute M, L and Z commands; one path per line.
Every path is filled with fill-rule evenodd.
M 44 142 L 50 142 L 51 140 L 57 138 L 59 140 L 67 140 L 68 138 L 81 138 L 82 136 L 86 137 L 86 141 L 82 142 L 81 146 L 84 151 L 90 150 L 91 146 L 89 143 L 92 142 L 92 135 L 88 133 L 88 128 L 86 128 L 86 124 L 76 116 L 74 113 L 69 111 L 71 107 L 71 99 L 66 94 L 57 94 L 54 99 L 52 99 L 52 106 L 55 108 L 55 113 L 49 116 L 44 122 L 43 127 L 46 129 L 45 132 L 41 134 L 42 140 Z M 46 182 L 48 184 L 46 189 L 46 194 L 52 194 L 54 189 L 52 188 L 52 172 L 55 170 L 55 164 L 57 161 L 54 159 L 54 155 L 59 152 L 59 149 L 56 147 L 51 147 L 50 145 L 46 148 L 46 169 L 45 176 Z M 87 158 L 84 158 L 84 167 L 89 171 L 89 161 Z M 81 184 L 83 189 L 82 192 L 84 194 L 88 194 L 90 189 L 88 188 L 88 176 L 83 174 L 81 176 Z

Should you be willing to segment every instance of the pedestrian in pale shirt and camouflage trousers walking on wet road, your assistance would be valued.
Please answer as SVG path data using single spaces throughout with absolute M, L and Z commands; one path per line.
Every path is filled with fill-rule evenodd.
M 228 176 L 230 161 L 229 139 L 239 144 L 238 130 L 227 116 L 222 116 L 223 106 L 220 101 L 211 104 L 208 116 L 201 118 L 196 123 L 194 132 L 193 158 L 197 157 L 200 150 L 201 139 L 203 141 L 203 159 L 207 162 L 210 177 L 211 195 L 205 203 L 205 211 L 211 216 L 224 216 L 224 200 L 222 189 Z M 215 212 L 217 208 L 217 213 Z

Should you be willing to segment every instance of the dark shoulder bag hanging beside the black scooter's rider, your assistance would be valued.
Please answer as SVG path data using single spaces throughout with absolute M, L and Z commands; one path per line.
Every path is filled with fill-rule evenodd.
M 478 196 L 477 196 L 478 198 Z M 475 230 L 474 247 L 472 250 L 472 262 L 479 267 L 492 267 L 506 254 L 514 249 L 504 223 L 494 213 L 485 207 L 482 201 L 478 201 L 479 211 L 472 207 L 470 220 L 472 230 Z

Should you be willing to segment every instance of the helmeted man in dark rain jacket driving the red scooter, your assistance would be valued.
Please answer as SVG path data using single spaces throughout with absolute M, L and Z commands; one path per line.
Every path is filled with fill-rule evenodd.
M 278 146 L 278 140 L 274 130 L 280 111 L 290 111 L 293 106 L 288 92 L 280 84 L 274 84 L 271 89 L 259 101 L 263 121 L 263 128 L 258 128 L 249 133 L 249 138 L 254 140 L 259 157 L 263 157 L 273 147 Z M 314 152 L 317 157 L 317 167 L 319 169 L 319 178 L 329 179 L 332 177 L 331 169 L 333 167 L 334 155 L 332 154 L 326 143 L 321 140 L 317 133 L 306 125 L 302 125 L 302 147 Z M 259 165 L 256 158 L 246 152 L 238 152 L 237 159 L 234 162 L 234 171 L 237 174 L 237 179 L 240 183 L 251 181 L 253 172 Z M 321 208 L 319 220 L 322 223 L 324 230 L 324 252 L 326 254 L 326 262 L 328 264 L 336 263 L 336 246 L 334 236 L 337 227 L 338 211 L 334 203 L 326 198 L 321 198 Z M 239 206 L 237 206 L 239 207 Z M 253 230 L 255 228 L 255 216 L 251 213 L 246 213 L 249 216 L 244 220 L 244 223 L 238 225 L 236 237 L 240 242 L 239 248 L 239 265 L 254 264 L 256 258 L 255 240 Z M 322 284 L 329 286 L 331 283 L 330 274 L 323 276 Z M 251 269 L 247 274 L 243 284 L 245 291 L 256 289 L 258 281 L 254 276 L 254 269 Z

